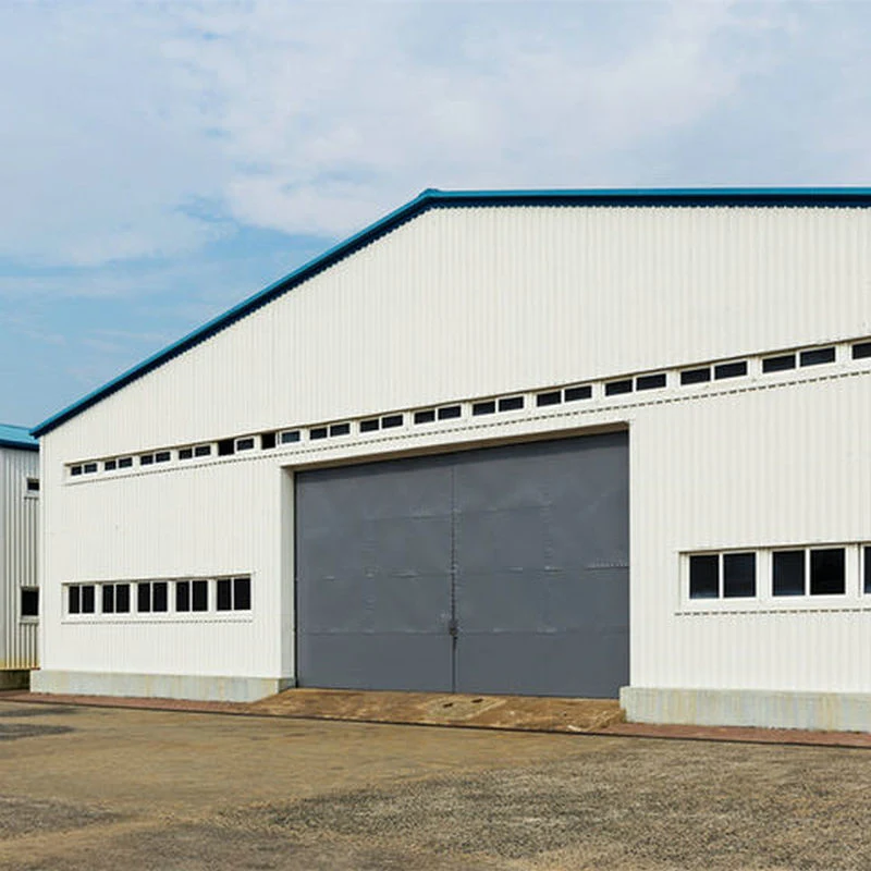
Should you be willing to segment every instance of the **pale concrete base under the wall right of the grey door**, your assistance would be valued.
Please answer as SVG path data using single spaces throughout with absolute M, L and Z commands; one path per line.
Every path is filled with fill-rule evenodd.
M 629 723 L 871 732 L 871 695 L 622 687 Z

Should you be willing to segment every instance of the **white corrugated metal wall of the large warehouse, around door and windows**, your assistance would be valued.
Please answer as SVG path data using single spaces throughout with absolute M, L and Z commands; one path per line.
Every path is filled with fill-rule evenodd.
M 441 209 L 44 440 L 44 665 L 293 674 L 283 467 L 630 430 L 631 682 L 871 691 L 871 606 L 682 600 L 680 553 L 871 538 L 871 368 L 464 418 L 69 482 L 85 457 L 871 334 L 859 209 Z M 61 584 L 250 573 L 249 621 L 70 623 Z M 257 599 L 257 597 L 260 597 Z M 869 597 L 871 599 L 871 597 Z

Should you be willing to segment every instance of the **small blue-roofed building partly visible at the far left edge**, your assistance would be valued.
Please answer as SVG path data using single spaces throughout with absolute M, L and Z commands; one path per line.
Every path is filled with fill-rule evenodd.
M 37 664 L 38 498 L 38 443 L 0 424 L 0 689 L 26 686 Z

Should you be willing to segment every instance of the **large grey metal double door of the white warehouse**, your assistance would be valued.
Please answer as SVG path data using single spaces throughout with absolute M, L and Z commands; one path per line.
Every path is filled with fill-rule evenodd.
M 625 432 L 296 476 L 303 686 L 615 697 Z

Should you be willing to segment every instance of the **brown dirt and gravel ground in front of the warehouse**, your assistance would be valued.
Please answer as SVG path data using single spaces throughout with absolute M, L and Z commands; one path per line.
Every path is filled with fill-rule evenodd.
M 0 702 L 0 869 L 868 869 L 871 753 Z

